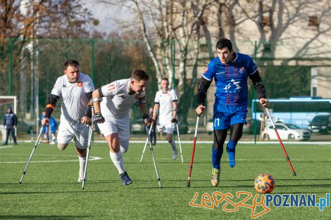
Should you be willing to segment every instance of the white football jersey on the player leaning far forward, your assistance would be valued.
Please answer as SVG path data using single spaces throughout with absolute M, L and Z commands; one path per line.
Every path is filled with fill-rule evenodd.
M 130 91 L 129 79 L 120 79 L 110 84 L 101 87 L 101 92 L 104 95 L 100 108 L 101 114 L 106 121 L 117 121 L 121 119 L 123 122 L 130 120 L 130 108 L 137 101 L 137 93 L 129 94 Z M 145 91 L 139 94 L 139 98 L 145 96 Z

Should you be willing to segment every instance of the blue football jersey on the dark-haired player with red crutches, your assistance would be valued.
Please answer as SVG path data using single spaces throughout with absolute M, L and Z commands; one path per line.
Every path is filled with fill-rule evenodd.
M 216 57 L 208 64 L 203 77 L 208 81 L 215 79 L 215 105 L 247 105 L 247 77 L 253 75 L 258 68 L 246 54 L 236 53 L 237 57 L 231 63 L 223 64 Z

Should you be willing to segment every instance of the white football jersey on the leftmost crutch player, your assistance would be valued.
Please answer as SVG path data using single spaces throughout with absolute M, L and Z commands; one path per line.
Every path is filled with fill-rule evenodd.
M 86 115 L 89 99 L 86 93 L 94 91 L 91 78 L 80 72 L 80 78 L 75 83 L 70 83 L 66 75 L 58 77 L 51 94 L 62 98 L 61 122 L 63 120 L 80 123 L 80 119 Z

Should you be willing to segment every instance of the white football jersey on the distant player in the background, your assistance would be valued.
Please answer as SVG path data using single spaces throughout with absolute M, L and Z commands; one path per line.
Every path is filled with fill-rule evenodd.
M 173 102 L 177 102 L 177 93 L 174 89 L 169 89 L 163 93 L 162 89 L 156 92 L 154 103 L 158 103 L 158 118 L 163 121 L 173 119 Z

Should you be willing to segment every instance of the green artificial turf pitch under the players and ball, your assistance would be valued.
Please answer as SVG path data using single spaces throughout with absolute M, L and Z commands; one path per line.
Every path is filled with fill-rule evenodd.
M 213 188 L 211 176 L 211 144 L 196 143 L 191 187 L 187 188 L 192 143 L 182 144 L 184 163 L 178 154 L 171 160 L 170 145 L 158 143 L 154 154 L 163 188 L 158 187 L 154 163 L 149 148 L 142 163 L 143 143 L 131 143 L 125 153 L 125 168 L 133 183 L 123 186 L 109 158 L 105 143 L 94 143 L 90 153 L 85 190 L 77 183 L 78 160 L 73 143 L 66 150 L 41 143 L 35 150 L 23 183 L 19 184 L 34 143 L 20 143 L 0 148 L 0 219 L 251 219 L 252 209 L 229 202 L 218 207 L 194 207 L 189 203 L 199 193 L 194 204 L 201 205 L 202 195 L 231 193 L 228 198 L 237 204 L 239 191 L 252 193 L 245 202 L 253 205 L 254 179 L 268 173 L 275 179 L 275 194 L 316 194 L 316 202 L 331 193 L 331 145 L 285 145 L 297 176 L 291 169 L 279 144 L 237 145 L 237 164 L 230 168 L 227 153 L 221 163 L 220 186 Z M 177 145 L 178 148 L 178 145 Z M 99 160 L 96 157 L 100 157 Z M 205 194 L 207 195 L 207 194 Z M 220 197 L 218 197 L 220 198 Z M 208 197 L 204 197 L 204 200 Z M 205 202 L 215 205 L 215 202 Z M 257 219 L 331 219 L 330 207 L 275 207 Z M 263 212 L 259 206 L 255 214 Z

